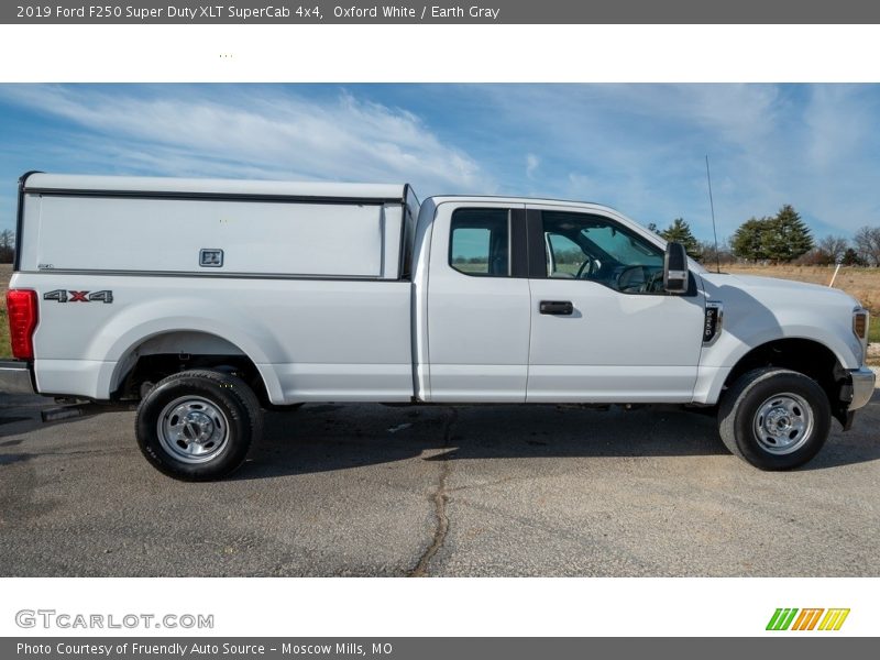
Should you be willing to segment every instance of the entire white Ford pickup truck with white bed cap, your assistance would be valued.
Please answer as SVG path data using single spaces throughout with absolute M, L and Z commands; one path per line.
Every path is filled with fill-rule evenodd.
M 708 273 L 593 204 L 31 173 L 18 212 L 0 388 L 140 400 L 177 479 L 306 402 L 681 404 L 785 470 L 873 393 L 857 300 Z

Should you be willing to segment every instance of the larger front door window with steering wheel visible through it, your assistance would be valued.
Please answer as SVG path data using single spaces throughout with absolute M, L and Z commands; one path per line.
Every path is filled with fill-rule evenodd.
M 663 293 L 663 251 L 608 218 L 542 212 L 547 276 L 625 294 Z

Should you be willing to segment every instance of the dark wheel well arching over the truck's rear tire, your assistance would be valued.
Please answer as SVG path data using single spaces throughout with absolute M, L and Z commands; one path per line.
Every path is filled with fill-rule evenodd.
M 234 374 L 253 389 L 261 404 L 268 394 L 256 364 L 235 344 L 205 332 L 167 332 L 152 337 L 120 361 L 124 373 L 112 398 L 140 400 L 162 378 L 182 371 L 209 369 Z

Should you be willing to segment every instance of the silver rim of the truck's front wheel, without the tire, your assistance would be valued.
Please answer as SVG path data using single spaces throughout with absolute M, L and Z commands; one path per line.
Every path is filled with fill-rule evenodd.
M 776 455 L 789 454 L 810 439 L 813 410 L 796 394 L 778 394 L 758 407 L 752 428 L 762 450 Z

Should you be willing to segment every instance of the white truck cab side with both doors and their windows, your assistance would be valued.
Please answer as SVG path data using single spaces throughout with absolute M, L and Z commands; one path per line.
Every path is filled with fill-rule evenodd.
M 595 205 L 518 201 L 425 205 L 430 400 L 690 403 L 702 268 L 670 295 L 647 230 Z

